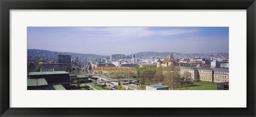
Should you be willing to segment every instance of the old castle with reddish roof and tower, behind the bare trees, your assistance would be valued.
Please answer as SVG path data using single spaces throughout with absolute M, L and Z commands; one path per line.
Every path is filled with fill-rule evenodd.
M 174 57 L 171 54 L 169 55 L 169 59 L 164 59 L 163 61 L 159 59 L 157 60 L 156 64 L 156 67 L 167 67 L 171 65 L 179 66 L 179 62 L 174 60 Z

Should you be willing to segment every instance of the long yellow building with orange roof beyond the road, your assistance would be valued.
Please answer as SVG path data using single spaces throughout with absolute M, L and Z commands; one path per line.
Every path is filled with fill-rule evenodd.
M 94 73 L 99 74 L 138 74 L 138 71 L 132 67 L 96 67 Z

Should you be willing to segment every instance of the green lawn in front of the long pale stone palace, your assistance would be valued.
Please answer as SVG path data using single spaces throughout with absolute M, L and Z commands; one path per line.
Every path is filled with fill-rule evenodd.
M 186 86 L 183 86 L 181 88 L 178 88 L 177 90 L 217 90 L 217 85 L 189 85 L 188 88 L 186 88 Z

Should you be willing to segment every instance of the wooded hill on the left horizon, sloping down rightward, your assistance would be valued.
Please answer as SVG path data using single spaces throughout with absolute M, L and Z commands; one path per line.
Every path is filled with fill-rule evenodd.
M 74 52 L 57 52 L 49 50 L 27 49 L 28 56 L 45 57 L 45 58 L 57 58 L 58 55 L 71 55 L 73 57 L 81 58 L 102 58 L 107 56 L 95 55 L 90 53 L 74 53 Z

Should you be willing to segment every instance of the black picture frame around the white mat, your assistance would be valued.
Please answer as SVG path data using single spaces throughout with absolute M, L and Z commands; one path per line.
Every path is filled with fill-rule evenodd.
M 1 116 L 255 116 L 255 0 L 1 0 Z M 10 10 L 246 10 L 246 108 L 10 108 Z M 238 22 L 239 23 L 239 22 Z M 235 102 L 234 102 L 235 103 Z

